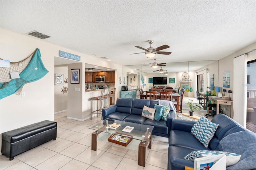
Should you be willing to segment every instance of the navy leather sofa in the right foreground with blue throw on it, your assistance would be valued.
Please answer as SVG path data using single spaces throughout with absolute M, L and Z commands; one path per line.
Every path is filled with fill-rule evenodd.
M 246 170 L 256 168 L 256 134 L 245 129 L 236 121 L 224 114 L 217 114 L 212 123 L 218 123 L 218 128 L 208 147 L 204 147 L 190 133 L 193 121 L 172 119 L 169 148 L 168 170 L 184 170 L 184 166 L 194 167 L 194 161 L 184 157 L 194 150 L 220 150 L 242 155 L 240 161 L 227 170 Z

